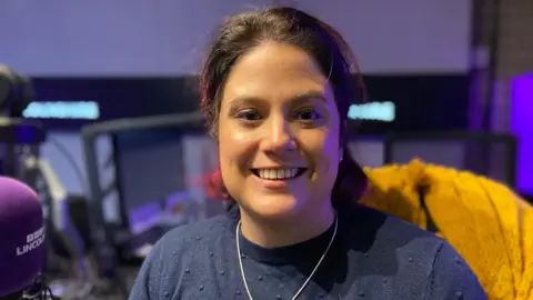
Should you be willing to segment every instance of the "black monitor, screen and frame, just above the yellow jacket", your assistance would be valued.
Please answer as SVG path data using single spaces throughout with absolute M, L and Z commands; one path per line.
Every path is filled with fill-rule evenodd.
M 516 139 L 484 132 L 393 133 L 384 139 L 384 162 L 408 163 L 414 158 L 467 170 L 516 184 Z

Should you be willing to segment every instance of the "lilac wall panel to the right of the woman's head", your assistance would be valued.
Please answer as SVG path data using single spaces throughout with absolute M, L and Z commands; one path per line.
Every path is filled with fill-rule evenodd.
M 364 73 L 469 70 L 471 1 L 299 1 L 338 28 Z

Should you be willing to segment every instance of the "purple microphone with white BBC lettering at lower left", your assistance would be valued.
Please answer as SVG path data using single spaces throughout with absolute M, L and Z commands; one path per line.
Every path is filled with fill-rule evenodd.
M 30 287 L 43 266 L 41 201 L 24 183 L 0 177 L 0 297 Z

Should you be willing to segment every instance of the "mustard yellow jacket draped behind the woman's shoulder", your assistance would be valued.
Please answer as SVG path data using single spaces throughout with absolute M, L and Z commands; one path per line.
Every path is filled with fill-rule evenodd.
M 533 300 L 533 208 L 511 189 L 420 160 L 364 171 L 370 184 L 362 203 L 436 228 L 491 299 Z

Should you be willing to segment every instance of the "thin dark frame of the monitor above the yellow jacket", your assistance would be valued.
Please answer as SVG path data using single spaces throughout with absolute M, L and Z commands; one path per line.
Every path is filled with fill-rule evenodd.
M 405 132 L 390 133 L 384 139 L 383 161 L 393 163 L 393 147 L 396 142 L 405 141 L 466 141 L 484 144 L 503 143 L 509 148 L 506 178 L 511 188 L 516 188 L 516 138 L 506 133 L 490 132 Z

